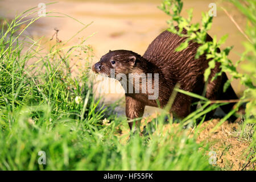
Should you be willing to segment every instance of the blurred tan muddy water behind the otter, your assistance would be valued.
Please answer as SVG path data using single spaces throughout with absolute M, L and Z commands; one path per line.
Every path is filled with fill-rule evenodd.
M 0 1 L 0 16 L 5 18 L 13 18 L 15 14 L 19 14 L 31 7 L 38 6 L 39 3 L 49 3 L 53 1 L 45 0 L 1 0 Z M 148 44 L 166 28 L 166 20 L 168 16 L 160 11 L 157 6 L 161 1 L 158 0 L 140 0 L 140 1 L 59 1 L 59 3 L 46 7 L 47 12 L 59 12 L 72 16 L 80 20 L 84 24 L 93 23 L 82 31 L 73 43 L 77 42 L 78 37 L 86 37 L 96 33 L 90 39 L 90 44 L 94 49 L 94 62 L 98 61 L 102 55 L 109 49 L 129 49 L 143 55 Z M 212 30 L 210 35 L 217 35 L 220 38 L 222 35 L 229 34 L 225 46 L 234 45 L 234 50 L 230 54 L 230 59 L 238 60 L 238 53 L 243 51 L 241 42 L 245 39 L 237 30 L 236 26 L 230 21 L 228 16 L 222 11 L 221 6 L 225 7 L 234 19 L 239 24 L 244 26 L 243 17 L 237 13 L 236 9 L 229 3 L 213 0 L 199 1 L 184 1 L 183 14 L 187 15 L 185 10 L 194 9 L 193 22 L 199 22 L 202 11 L 209 11 L 209 3 L 217 4 L 217 16 L 214 17 Z M 58 15 L 58 14 L 56 14 Z M 60 16 L 60 15 L 59 15 Z M 45 17 L 34 23 L 26 33 L 34 38 L 46 36 L 51 38 L 54 33 L 54 28 L 59 31 L 59 38 L 68 40 L 77 31 L 82 28 L 82 24 L 71 18 L 56 18 Z M 71 42 L 72 44 L 72 42 Z M 98 78 L 97 78 L 98 79 Z M 97 80 L 96 79 L 96 80 Z M 113 87 L 116 83 L 110 85 Z M 232 82 L 232 85 L 237 93 L 242 91 L 242 86 L 238 82 Z M 119 85 L 118 85 L 119 86 Z M 97 88 L 95 88 L 97 91 Z M 117 89 L 118 90 L 118 89 Z M 120 91 L 121 90 L 121 91 Z M 109 94 L 103 94 L 105 103 L 113 103 L 121 99 L 123 101 L 124 92 L 119 86 L 119 91 Z M 124 113 L 124 105 L 117 107 L 119 113 Z M 156 109 L 146 107 L 146 114 L 154 112 Z

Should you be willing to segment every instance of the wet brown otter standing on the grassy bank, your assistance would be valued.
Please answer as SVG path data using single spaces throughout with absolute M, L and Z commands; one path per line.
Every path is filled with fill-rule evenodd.
M 185 30 L 182 33 L 187 34 Z M 216 63 L 210 72 L 208 84 L 205 83 L 204 72 L 208 68 L 210 59 L 207 59 L 205 54 L 195 59 L 200 44 L 189 42 L 188 47 L 183 51 L 175 51 L 185 39 L 187 38 L 169 31 L 163 31 L 148 46 L 143 56 L 127 50 L 109 51 L 101 57 L 98 63 L 93 65 L 94 72 L 108 77 L 110 77 L 112 69 L 114 69 L 115 76 L 119 73 L 125 75 L 128 78 L 125 81 L 122 80 L 122 82 L 126 82 L 126 84 L 122 84 L 125 85 L 125 88 L 129 84 L 129 76 L 131 77 L 131 74 L 134 73 L 143 75 L 139 78 L 141 80 L 147 80 L 148 78 L 153 85 L 152 88 L 154 88 L 155 84 L 153 83 L 156 82 L 156 77 L 153 75 L 158 74 L 158 98 L 149 99 L 148 96 L 152 96 L 152 92 L 149 92 L 148 85 L 142 85 L 141 80 L 139 81 L 139 89 L 144 89 L 144 93 L 131 92 L 135 89 L 134 82 L 133 87 L 129 87 L 125 93 L 126 117 L 129 120 L 142 117 L 145 106 L 160 106 L 162 108 L 166 106 L 176 84 L 180 85 L 180 89 L 188 92 L 199 95 L 204 93 L 204 96 L 209 100 L 233 100 L 238 98 L 231 85 L 226 89 L 226 92 L 223 92 L 223 86 L 228 80 L 224 72 L 211 81 L 216 73 L 221 71 L 220 63 Z M 212 41 L 212 38 L 207 35 L 205 41 Z M 170 113 L 173 113 L 177 118 L 185 118 L 196 110 L 196 105 L 192 105 L 196 101 L 198 101 L 196 98 L 178 92 Z M 221 109 L 228 113 L 233 105 L 234 103 L 222 105 Z M 212 117 L 213 113 L 214 111 L 208 113 L 206 119 Z M 132 129 L 134 122 L 128 123 L 130 129 Z M 140 121 L 136 121 L 135 126 L 138 127 L 139 125 Z

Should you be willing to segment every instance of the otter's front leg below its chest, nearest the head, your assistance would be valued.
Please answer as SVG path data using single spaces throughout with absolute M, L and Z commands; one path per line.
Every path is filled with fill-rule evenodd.
M 140 118 L 142 117 L 144 113 L 144 108 L 145 105 L 142 104 L 142 102 L 135 100 L 134 98 L 130 96 L 125 96 L 125 101 L 126 101 L 126 107 L 125 107 L 125 113 L 126 117 L 129 119 L 135 119 L 135 118 Z M 133 129 L 133 123 L 134 122 L 128 122 L 130 130 Z M 135 122 L 135 129 L 138 128 L 141 125 L 141 119 Z

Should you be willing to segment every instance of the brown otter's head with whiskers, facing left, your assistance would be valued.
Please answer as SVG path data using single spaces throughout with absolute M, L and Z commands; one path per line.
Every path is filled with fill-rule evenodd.
M 94 64 L 92 70 L 101 75 L 110 77 L 110 73 L 128 75 L 132 72 L 137 61 L 137 53 L 126 50 L 109 51 Z M 112 76 L 112 75 L 111 75 Z

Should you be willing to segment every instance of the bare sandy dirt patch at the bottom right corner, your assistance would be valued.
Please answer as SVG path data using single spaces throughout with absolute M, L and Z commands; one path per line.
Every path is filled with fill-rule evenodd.
M 235 131 L 238 122 L 224 122 L 214 132 L 210 132 L 220 119 L 204 122 L 198 142 L 210 144 L 210 149 L 216 152 L 217 166 L 226 170 L 255 170 L 255 162 L 251 158 L 246 159 L 249 154 L 250 143 L 240 138 Z

